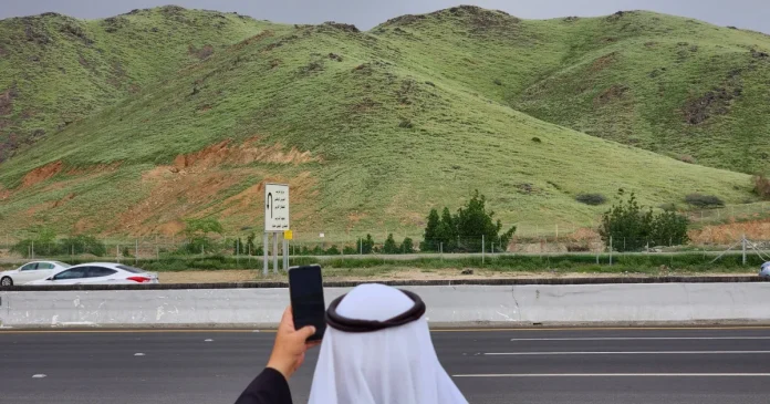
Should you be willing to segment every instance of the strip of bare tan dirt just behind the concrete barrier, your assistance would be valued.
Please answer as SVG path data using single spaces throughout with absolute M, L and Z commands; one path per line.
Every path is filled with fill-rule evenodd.
M 660 273 L 664 274 L 664 273 Z M 669 276 L 688 276 L 695 273 L 665 273 Z M 698 277 L 710 276 L 756 276 L 747 273 L 697 273 Z M 220 282 L 254 282 L 285 281 L 285 274 L 262 278 L 257 270 L 218 270 L 218 271 L 184 271 L 160 272 L 160 283 L 220 283 Z M 324 270 L 326 281 L 388 281 L 388 280 L 448 280 L 448 279 L 556 279 L 556 278 L 646 278 L 643 273 L 582 273 L 582 272 L 514 272 L 489 271 L 474 269 L 472 274 L 461 274 L 457 269 L 417 269 L 398 268 L 388 271 L 372 271 L 367 269 L 329 269 Z

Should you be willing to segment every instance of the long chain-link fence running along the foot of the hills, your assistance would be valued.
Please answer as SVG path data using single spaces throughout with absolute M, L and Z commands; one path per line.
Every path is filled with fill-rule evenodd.
M 399 256 L 399 255 L 602 255 L 602 253 L 660 253 L 693 252 L 720 253 L 730 249 L 741 238 L 731 238 L 728 242 L 689 242 L 676 245 L 672 240 L 652 239 L 602 239 L 593 234 L 587 237 L 516 236 L 508 242 L 500 239 L 454 238 L 443 240 L 423 240 L 415 237 L 393 237 L 392 239 L 357 237 L 348 241 L 329 240 L 291 240 L 289 255 L 295 257 L 311 256 Z M 766 240 L 755 240 L 757 249 L 770 255 L 770 236 Z M 282 255 L 281 244 L 278 250 Z M 196 238 L 144 237 L 133 240 L 100 238 L 62 238 L 52 241 L 24 239 L 15 241 L 0 240 L 0 259 L 77 259 L 131 262 L 166 257 L 243 257 L 260 259 L 264 253 L 262 239 L 243 237 Z M 272 244 L 268 255 L 272 253 Z

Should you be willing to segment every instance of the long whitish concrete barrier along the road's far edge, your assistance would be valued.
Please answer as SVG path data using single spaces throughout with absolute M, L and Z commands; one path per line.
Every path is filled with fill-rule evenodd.
M 434 325 L 770 322 L 770 282 L 404 287 Z M 350 288 L 326 288 L 326 302 Z M 274 327 L 282 288 L 0 291 L 0 325 Z

